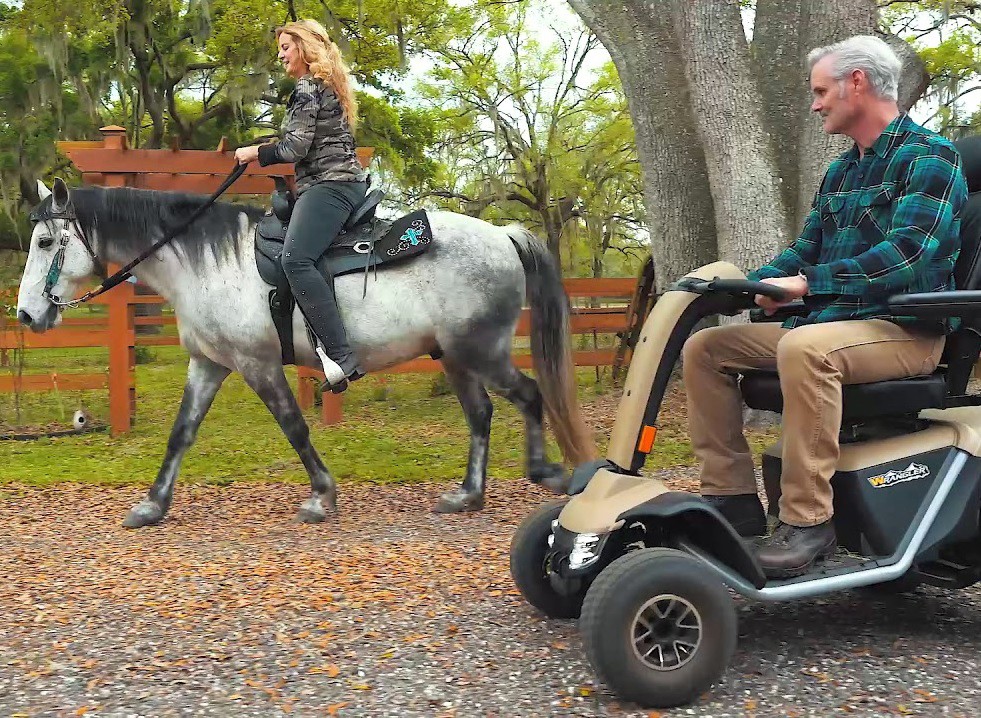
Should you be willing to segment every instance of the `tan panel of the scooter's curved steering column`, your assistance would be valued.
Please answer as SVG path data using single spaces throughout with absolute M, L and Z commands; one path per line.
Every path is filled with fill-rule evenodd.
M 746 278 L 736 265 L 729 262 L 707 264 L 687 276 L 705 280 L 716 277 Z M 688 305 L 697 298 L 697 294 L 690 292 L 665 292 L 654 304 L 647 321 L 644 322 L 644 328 L 630 358 L 630 370 L 624 381 L 623 396 L 620 398 L 616 422 L 610 435 L 610 445 L 606 451 L 606 458 L 617 466 L 629 467 L 633 461 L 637 437 L 640 435 L 647 401 L 650 399 L 654 385 L 654 375 L 661 364 L 661 357 L 671 336 L 671 330 L 674 329 L 678 318 Z

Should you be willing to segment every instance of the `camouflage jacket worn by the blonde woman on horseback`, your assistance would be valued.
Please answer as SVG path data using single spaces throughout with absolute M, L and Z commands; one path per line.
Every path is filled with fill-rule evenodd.
M 334 91 L 311 75 L 296 83 L 283 120 L 282 139 L 259 147 L 259 164 L 296 164 L 296 190 L 320 182 L 361 182 L 365 172 L 354 136 Z

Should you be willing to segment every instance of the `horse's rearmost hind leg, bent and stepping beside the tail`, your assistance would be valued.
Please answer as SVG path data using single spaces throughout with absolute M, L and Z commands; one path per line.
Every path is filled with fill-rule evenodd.
M 483 370 L 481 376 L 487 386 L 518 407 L 525 418 L 528 478 L 556 493 L 565 493 L 569 486 L 568 474 L 561 464 L 549 463 L 545 457 L 544 411 L 538 382 L 518 371 L 510 358 Z

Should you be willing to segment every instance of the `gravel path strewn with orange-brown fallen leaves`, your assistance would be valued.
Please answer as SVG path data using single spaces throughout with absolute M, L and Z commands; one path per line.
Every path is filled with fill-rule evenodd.
M 138 488 L 0 487 L 0 715 L 981 714 L 973 589 L 744 605 L 723 684 L 623 705 L 575 622 L 511 584 L 511 533 L 548 495 L 492 482 L 481 514 L 429 513 L 444 489 L 346 488 L 338 520 L 297 526 L 302 486 L 183 487 L 127 532 Z

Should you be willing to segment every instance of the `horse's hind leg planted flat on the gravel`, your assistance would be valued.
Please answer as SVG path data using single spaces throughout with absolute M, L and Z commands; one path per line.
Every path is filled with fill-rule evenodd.
M 484 487 L 487 484 L 487 449 L 490 444 L 490 422 L 494 405 L 477 375 L 452 361 L 443 360 L 446 378 L 456 392 L 470 427 L 470 452 L 467 473 L 459 489 L 440 497 L 433 509 L 437 513 L 479 511 L 484 508 Z

